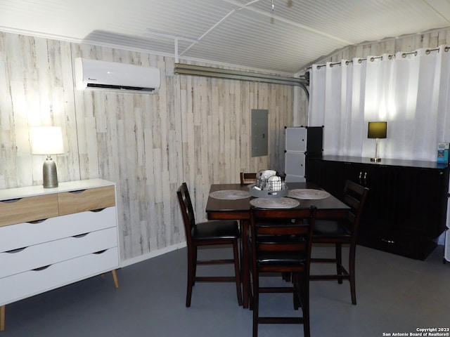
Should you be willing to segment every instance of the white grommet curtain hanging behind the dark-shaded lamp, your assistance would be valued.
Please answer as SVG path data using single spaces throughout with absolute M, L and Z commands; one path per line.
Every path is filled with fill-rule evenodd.
M 373 157 L 368 121 L 387 121 L 383 158 L 435 161 L 450 142 L 450 51 L 354 58 L 311 68 L 309 126 L 324 126 L 324 154 Z

